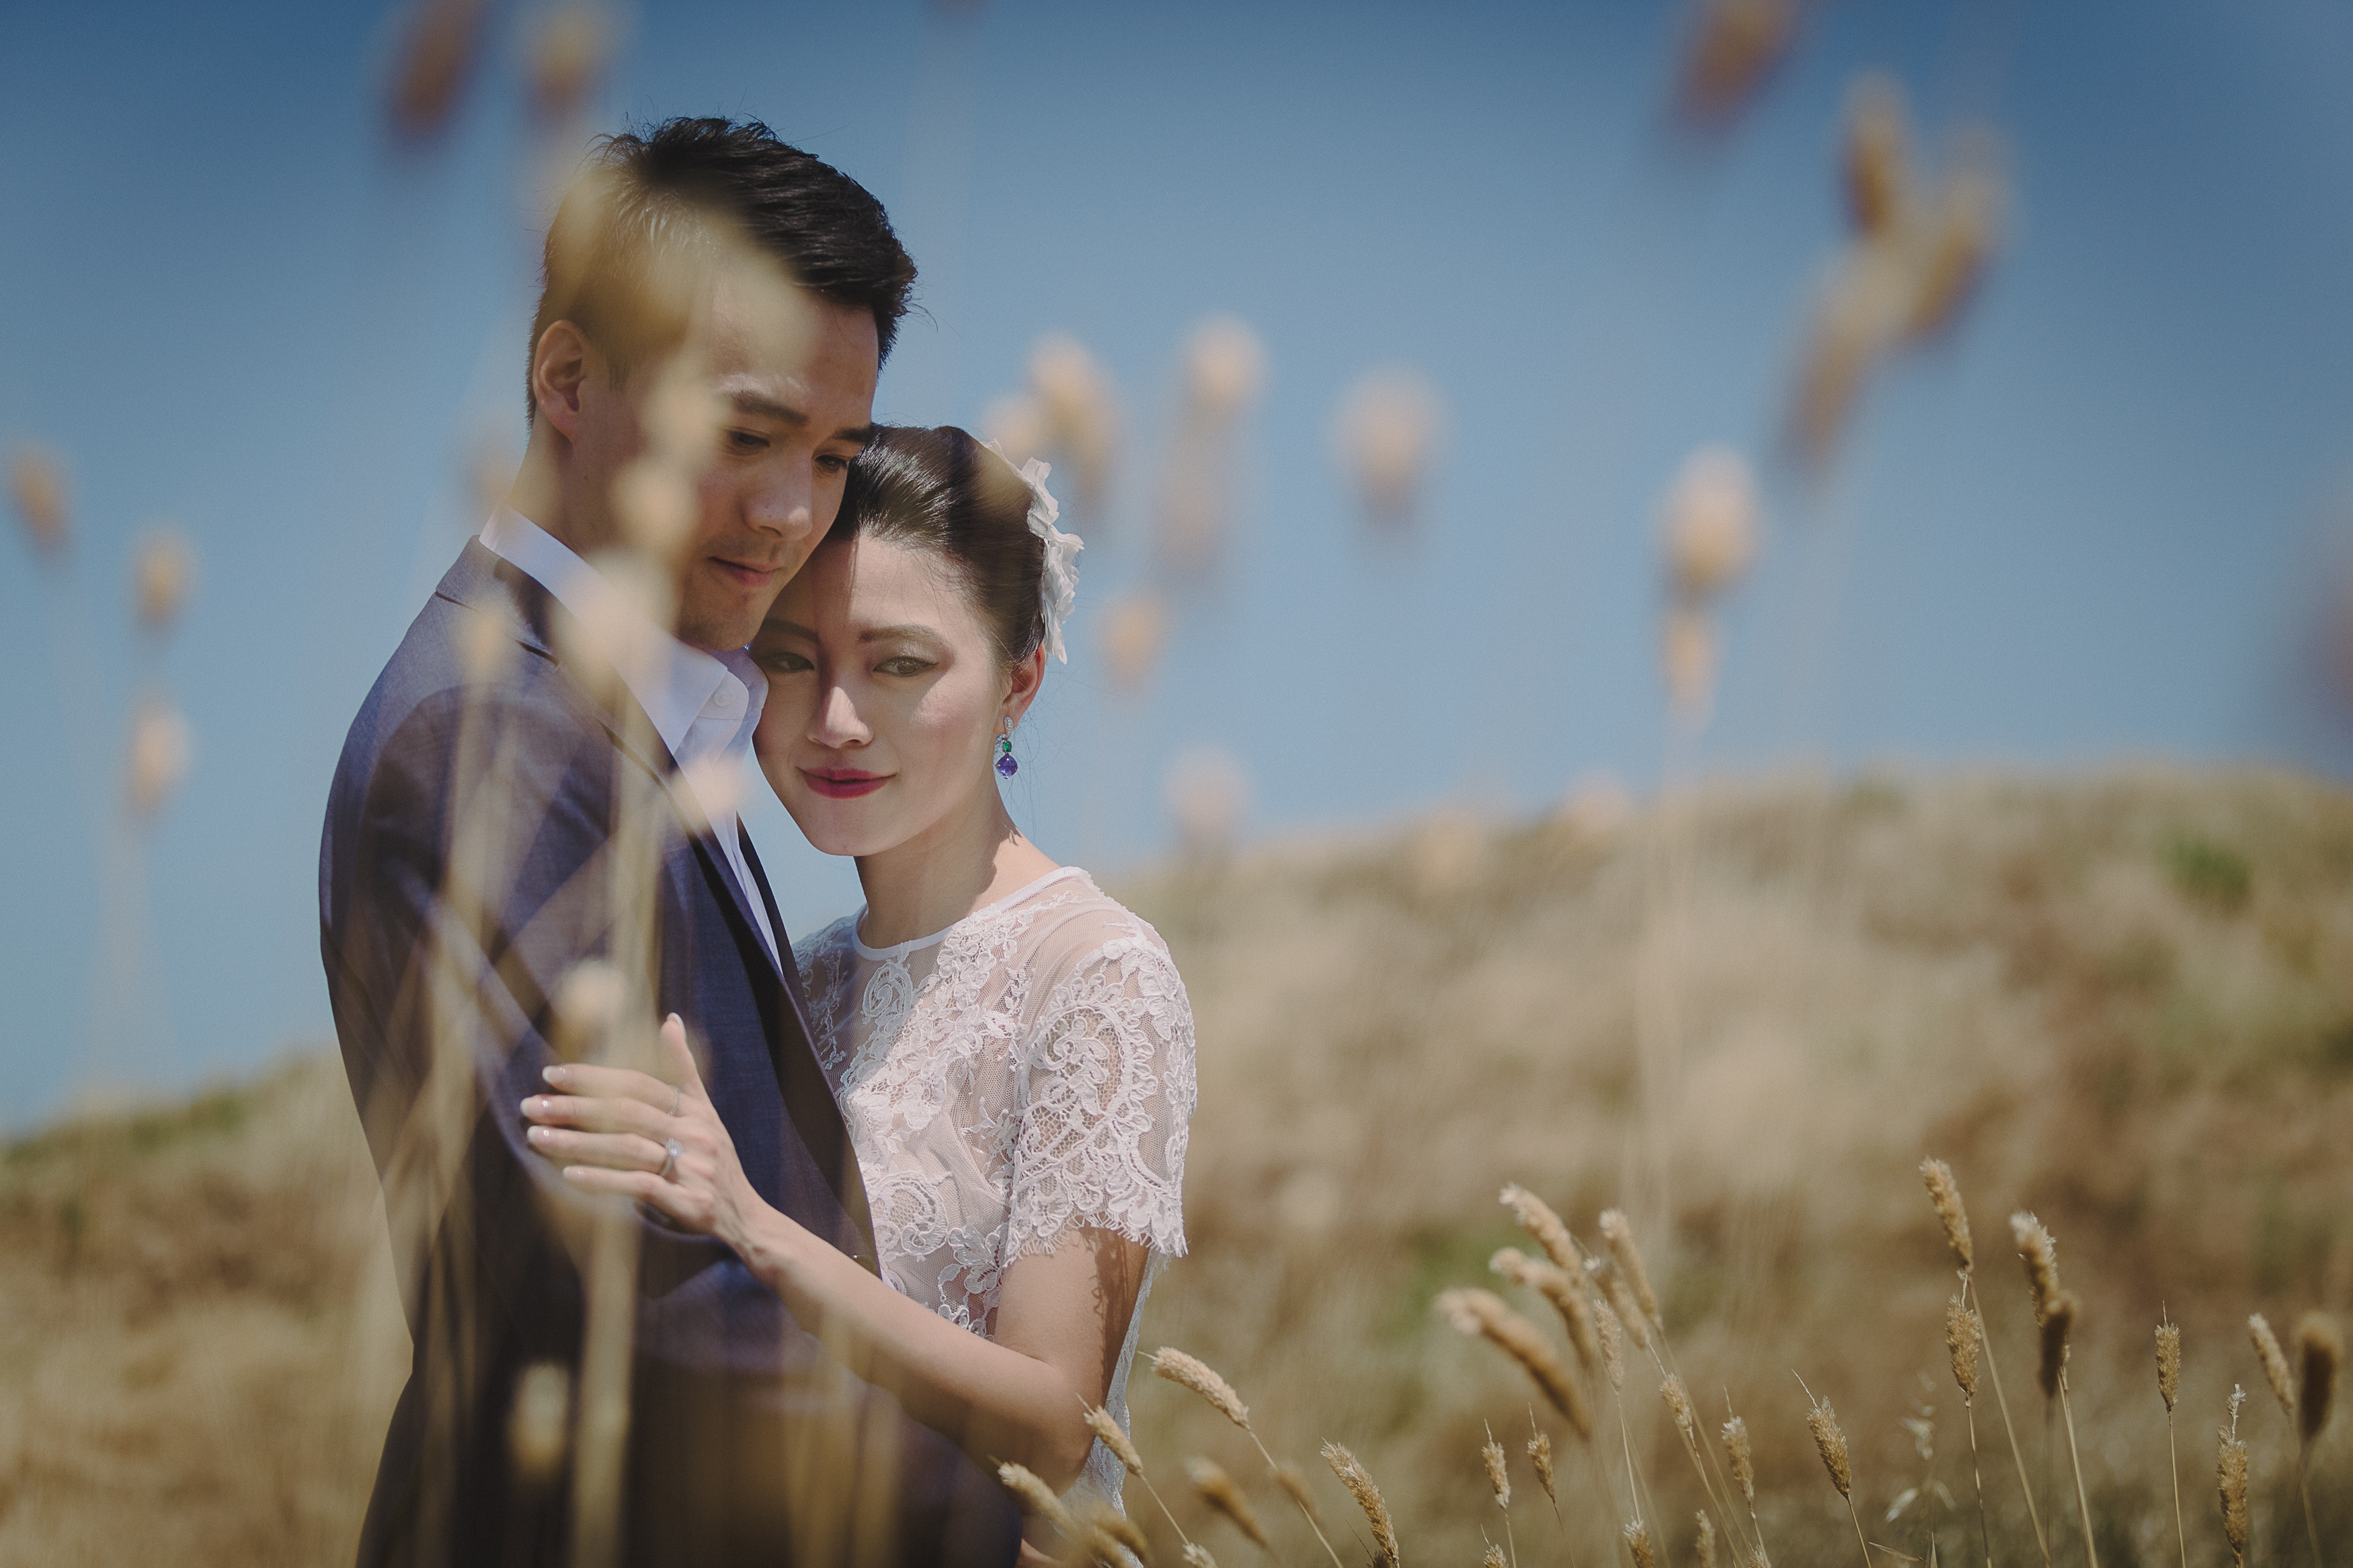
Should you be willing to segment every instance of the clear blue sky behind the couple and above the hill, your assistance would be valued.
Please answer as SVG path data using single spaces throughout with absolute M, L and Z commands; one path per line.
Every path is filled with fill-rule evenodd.
M 315 846 L 344 726 L 520 440 L 536 247 L 508 2 L 449 134 L 398 148 L 367 5 L 0 9 L 0 444 L 66 456 L 75 545 L 0 541 L 0 1124 L 327 1037 Z M 1073 663 L 1009 799 L 1052 853 L 1162 853 L 1167 762 L 1231 750 L 1247 832 L 1532 811 L 1657 778 L 1652 512 L 1701 442 L 1769 454 L 1842 233 L 1864 68 L 1920 143 L 2009 148 L 2009 247 L 1882 376 L 1821 491 L 1774 477 L 1704 762 L 2080 766 L 2353 750 L 2306 682 L 2353 480 L 2353 19 L 2320 2 L 1826 0 L 1737 134 L 1664 127 L 1666 5 L 642 5 L 595 125 L 741 113 L 892 207 L 925 268 L 880 411 L 976 421 L 1071 331 L 1125 404 Z M 1266 343 L 1240 515 L 1153 689 L 1089 609 L 1144 581 L 1176 355 Z M 1348 383 L 1447 407 L 1419 531 L 1367 543 Z M 162 644 L 132 536 L 202 559 Z M 132 696 L 195 769 L 118 809 Z M 854 877 L 751 813 L 793 929 Z

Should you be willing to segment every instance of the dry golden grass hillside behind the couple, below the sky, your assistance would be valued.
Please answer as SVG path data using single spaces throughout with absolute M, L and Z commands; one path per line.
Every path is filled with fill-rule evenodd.
M 1631 1507 L 1659 1561 L 1701 1561 L 1706 1497 L 1645 1356 L 1624 1427 L 1586 1380 L 1588 1448 L 1433 1316 L 1440 1291 L 1487 1286 L 1560 1345 L 1487 1272 L 1499 1246 L 1537 1251 L 1497 1204 L 1515 1180 L 1595 1248 L 1598 1213 L 1628 1211 L 1701 1434 L 1727 1401 L 1753 1432 L 1774 1561 L 1864 1552 L 1793 1373 L 1838 1410 L 1873 1556 L 1981 1561 L 1953 1262 L 1918 1178 L 1937 1154 L 1969 1201 L 2052 1561 L 2085 1542 L 2017 1208 L 2082 1298 L 2068 1387 L 2101 1568 L 2179 1559 L 2160 1309 L 2184 1335 L 2188 1556 L 2231 1561 L 2214 1429 L 2242 1385 L 2249 1561 L 2311 1561 L 2294 1427 L 2245 1324 L 2285 1335 L 2353 1295 L 2353 797 L 2221 771 L 1713 785 L 1621 823 L 1440 816 L 1125 893 L 1176 950 L 1202 1074 L 1193 1255 L 1144 1345 L 1238 1385 L 1344 1559 L 1372 1537 L 1315 1458 L 1327 1439 L 1388 1495 L 1409 1563 L 1478 1563 L 1487 1540 L 1626 1563 Z M 344 1559 L 405 1345 L 332 1056 L 9 1147 L 0 1248 L 0 1563 Z M 1141 1366 L 1134 1406 L 1153 1479 L 1219 1561 L 1268 1554 L 1191 1493 L 1191 1455 L 1245 1486 L 1275 1561 L 1327 1561 L 1242 1432 Z M 1567 1535 L 1522 1455 L 1532 1406 Z M 1482 1422 L 1511 1453 L 1508 1533 Z M 2311 1453 L 2322 1561 L 2353 1561 L 2344 1427 Z M 1988 1396 L 1977 1439 L 1993 1559 L 2040 1561 Z M 1136 1486 L 1129 1509 L 1174 1561 Z

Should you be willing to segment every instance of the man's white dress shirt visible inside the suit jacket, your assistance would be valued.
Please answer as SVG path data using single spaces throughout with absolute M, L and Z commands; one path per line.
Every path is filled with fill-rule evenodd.
M 621 599 L 605 574 L 513 508 L 501 505 L 489 515 L 482 524 L 482 548 L 546 588 L 584 623 L 609 623 L 614 602 Z M 744 759 L 751 755 L 751 731 L 767 703 L 767 677 L 744 649 L 722 654 L 689 649 L 668 628 L 649 621 L 638 630 L 652 635 L 612 639 L 614 672 L 654 722 L 654 733 L 671 748 L 685 785 L 711 818 L 711 837 L 718 839 L 736 886 L 744 889 L 744 903 L 760 929 L 760 940 L 767 943 L 769 961 L 781 969 L 776 933 L 769 931 L 760 884 L 744 860 L 736 827 Z

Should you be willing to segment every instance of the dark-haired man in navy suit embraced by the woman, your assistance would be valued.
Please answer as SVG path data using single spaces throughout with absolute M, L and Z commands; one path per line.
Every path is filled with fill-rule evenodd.
M 1007 1563 L 1019 1516 L 725 1248 L 572 1192 L 520 1100 L 680 1013 L 762 1197 L 873 1260 L 734 816 L 744 644 L 833 522 L 913 261 L 762 125 L 565 197 L 532 437 L 351 726 L 320 950 L 414 1363 L 360 1563 Z

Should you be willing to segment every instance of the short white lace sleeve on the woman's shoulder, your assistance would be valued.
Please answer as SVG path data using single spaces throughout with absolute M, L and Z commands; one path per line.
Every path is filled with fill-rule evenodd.
M 1071 1225 L 1184 1253 L 1193 1009 L 1167 952 L 1120 938 L 1064 978 L 1028 1032 L 1005 1260 Z

